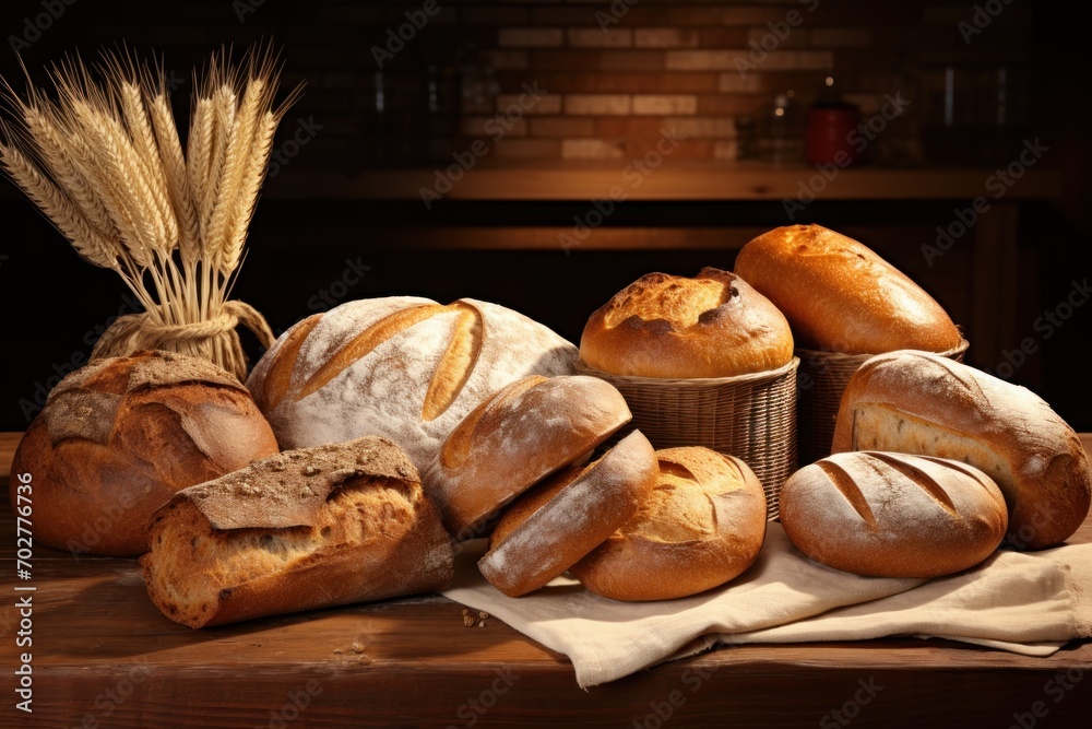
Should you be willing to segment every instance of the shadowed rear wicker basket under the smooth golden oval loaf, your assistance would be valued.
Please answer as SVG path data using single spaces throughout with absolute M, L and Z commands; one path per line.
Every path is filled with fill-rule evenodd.
M 940 355 L 962 362 L 966 348 L 964 339 L 959 346 Z M 796 356 L 800 358 L 798 442 L 800 463 L 806 466 L 830 455 L 842 393 L 860 365 L 876 355 L 796 350 Z

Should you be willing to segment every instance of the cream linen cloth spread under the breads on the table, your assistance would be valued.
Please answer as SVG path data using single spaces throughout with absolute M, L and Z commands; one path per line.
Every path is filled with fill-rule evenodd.
M 1021 554 L 933 580 L 857 577 L 805 557 L 771 522 L 750 569 L 679 600 L 617 602 L 559 577 L 509 598 L 477 572 L 485 540 L 463 545 L 444 595 L 485 610 L 572 661 L 581 687 L 703 646 L 945 637 L 1029 656 L 1092 636 L 1092 544 Z

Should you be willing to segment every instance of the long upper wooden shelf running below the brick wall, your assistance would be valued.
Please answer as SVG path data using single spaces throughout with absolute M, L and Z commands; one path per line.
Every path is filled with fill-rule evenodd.
M 821 201 L 994 199 L 988 168 L 846 168 L 831 181 L 811 166 L 760 162 L 665 164 L 646 176 L 627 163 L 527 163 L 471 169 L 443 198 L 483 201 L 624 199 L 631 201 L 781 201 L 808 185 Z M 640 180 L 638 184 L 637 180 Z M 435 188 L 437 169 L 376 169 L 352 177 L 288 172 L 271 180 L 264 195 L 278 200 L 420 200 Z M 812 183 L 814 180 L 814 183 Z M 612 192 L 614 191 L 614 192 Z M 1029 169 L 1004 199 L 1048 199 L 1061 193 L 1061 173 Z

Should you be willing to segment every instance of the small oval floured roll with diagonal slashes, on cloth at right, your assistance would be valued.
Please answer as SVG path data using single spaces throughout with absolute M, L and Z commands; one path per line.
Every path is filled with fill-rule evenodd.
M 972 567 L 1005 537 L 1005 498 L 985 473 L 940 458 L 863 451 L 805 466 L 781 491 L 781 525 L 816 562 L 866 577 Z

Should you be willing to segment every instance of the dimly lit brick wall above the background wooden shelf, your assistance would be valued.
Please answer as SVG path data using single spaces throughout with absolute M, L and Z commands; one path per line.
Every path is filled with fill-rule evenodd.
M 10 42 L 41 8 L 4 4 Z M 957 124 L 992 124 L 1002 93 L 1006 124 L 1026 120 L 1030 3 L 981 4 L 1002 10 L 966 43 L 960 23 L 974 22 L 973 3 L 935 1 L 75 2 L 22 55 L 36 69 L 123 40 L 162 52 L 183 93 L 211 48 L 274 38 L 286 81 L 307 81 L 286 126 L 311 117 L 321 126 L 294 160 L 299 168 L 419 165 L 476 138 L 488 141 L 490 162 L 625 158 L 664 129 L 686 138 L 672 161 L 731 160 L 749 149 L 741 121 L 761 129 L 774 94 L 790 90 L 806 108 L 830 73 L 865 115 L 888 93 L 912 99 L 869 150 L 898 161 L 919 155 L 922 129 L 940 120 L 949 67 Z M 0 71 L 20 75 L 10 55 Z M 524 84 L 548 93 L 517 119 Z

